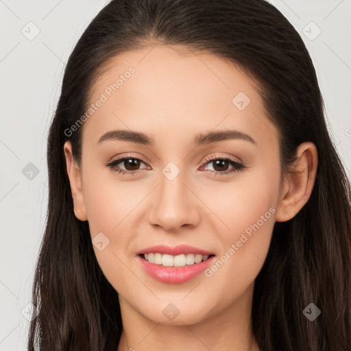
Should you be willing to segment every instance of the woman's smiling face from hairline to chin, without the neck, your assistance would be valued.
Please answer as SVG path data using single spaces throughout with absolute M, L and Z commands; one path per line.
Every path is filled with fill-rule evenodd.
M 188 324 L 226 311 L 252 293 L 267 256 L 281 197 L 278 130 L 254 82 L 217 56 L 147 47 L 107 67 L 81 127 L 74 195 L 97 261 L 147 319 Z M 138 254 L 165 249 L 145 250 L 154 245 L 191 246 L 173 252 L 180 265 L 191 252 L 214 256 L 161 267 Z

